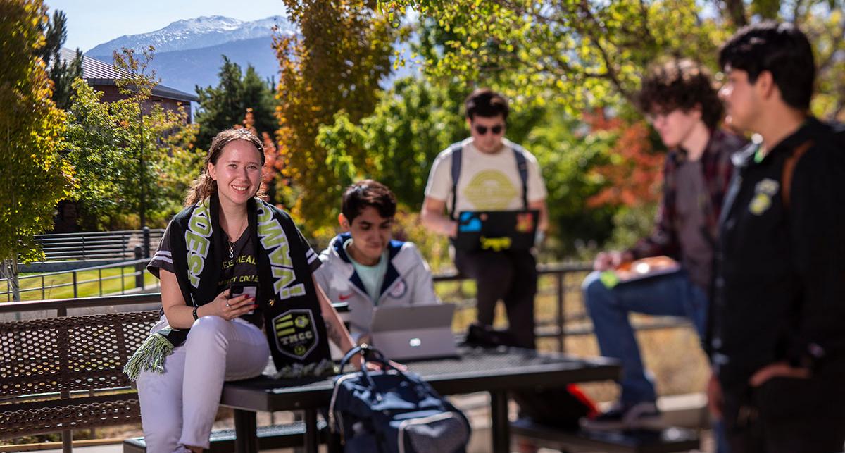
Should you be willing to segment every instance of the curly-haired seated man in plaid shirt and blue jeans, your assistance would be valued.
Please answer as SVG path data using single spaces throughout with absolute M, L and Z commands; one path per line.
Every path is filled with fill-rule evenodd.
M 641 110 L 668 148 L 663 197 L 650 237 L 630 250 L 602 252 L 583 283 L 584 302 L 602 356 L 622 363 L 619 402 L 590 428 L 636 428 L 659 417 L 657 392 L 640 356 L 631 312 L 684 316 L 704 338 L 713 244 L 722 200 L 733 171 L 731 155 L 744 139 L 718 127 L 722 102 L 700 64 L 673 60 L 646 75 L 637 96 Z M 601 273 L 626 261 L 669 255 L 682 270 L 608 287 Z

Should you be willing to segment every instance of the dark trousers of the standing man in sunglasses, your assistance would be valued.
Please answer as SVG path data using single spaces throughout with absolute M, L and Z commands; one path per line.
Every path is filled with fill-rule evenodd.
M 455 267 L 476 281 L 478 322 L 493 325 L 501 299 L 508 314 L 508 330 L 522 347 L 534 348 L 534 296 L 537 260 L 528 250 L 466 252 L 455 250 Z

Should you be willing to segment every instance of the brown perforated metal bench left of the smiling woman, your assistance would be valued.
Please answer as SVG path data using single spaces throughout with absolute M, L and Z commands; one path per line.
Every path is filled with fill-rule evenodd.
M 138 396 L 123 363 L 158 312 L 0 323 L 0 439 L 135 423 Z

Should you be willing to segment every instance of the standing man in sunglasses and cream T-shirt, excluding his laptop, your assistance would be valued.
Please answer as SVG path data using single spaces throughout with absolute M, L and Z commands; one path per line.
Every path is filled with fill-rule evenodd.
M 542 238 L 548 226 L 546 186 L 537 158 L 504 138 L 508 101 L 493 90 L 480 89 L 466 98 L 465 107 L 471 136 L 434 160 L 423 225 L 455 238 L 461 211 L 537 210 L 537 237 Z M 510 334 L 520 346 L 533 348 L 537 260 L 532 251 L 458 248 L 455 267 L 476 281 L 478 323 L 493 325 L 494 308 L 502 299 Z

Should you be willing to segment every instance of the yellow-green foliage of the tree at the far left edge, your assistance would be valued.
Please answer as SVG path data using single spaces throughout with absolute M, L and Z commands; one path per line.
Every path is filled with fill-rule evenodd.
M 37 0 L 2 0 L 0 17 L 0 270 L 14 277 L 19 256 L 43 256 L 33 236 L 52 226 L 72 170 L 60 155 L 64 115 L 38 54 L 46 8 Z

